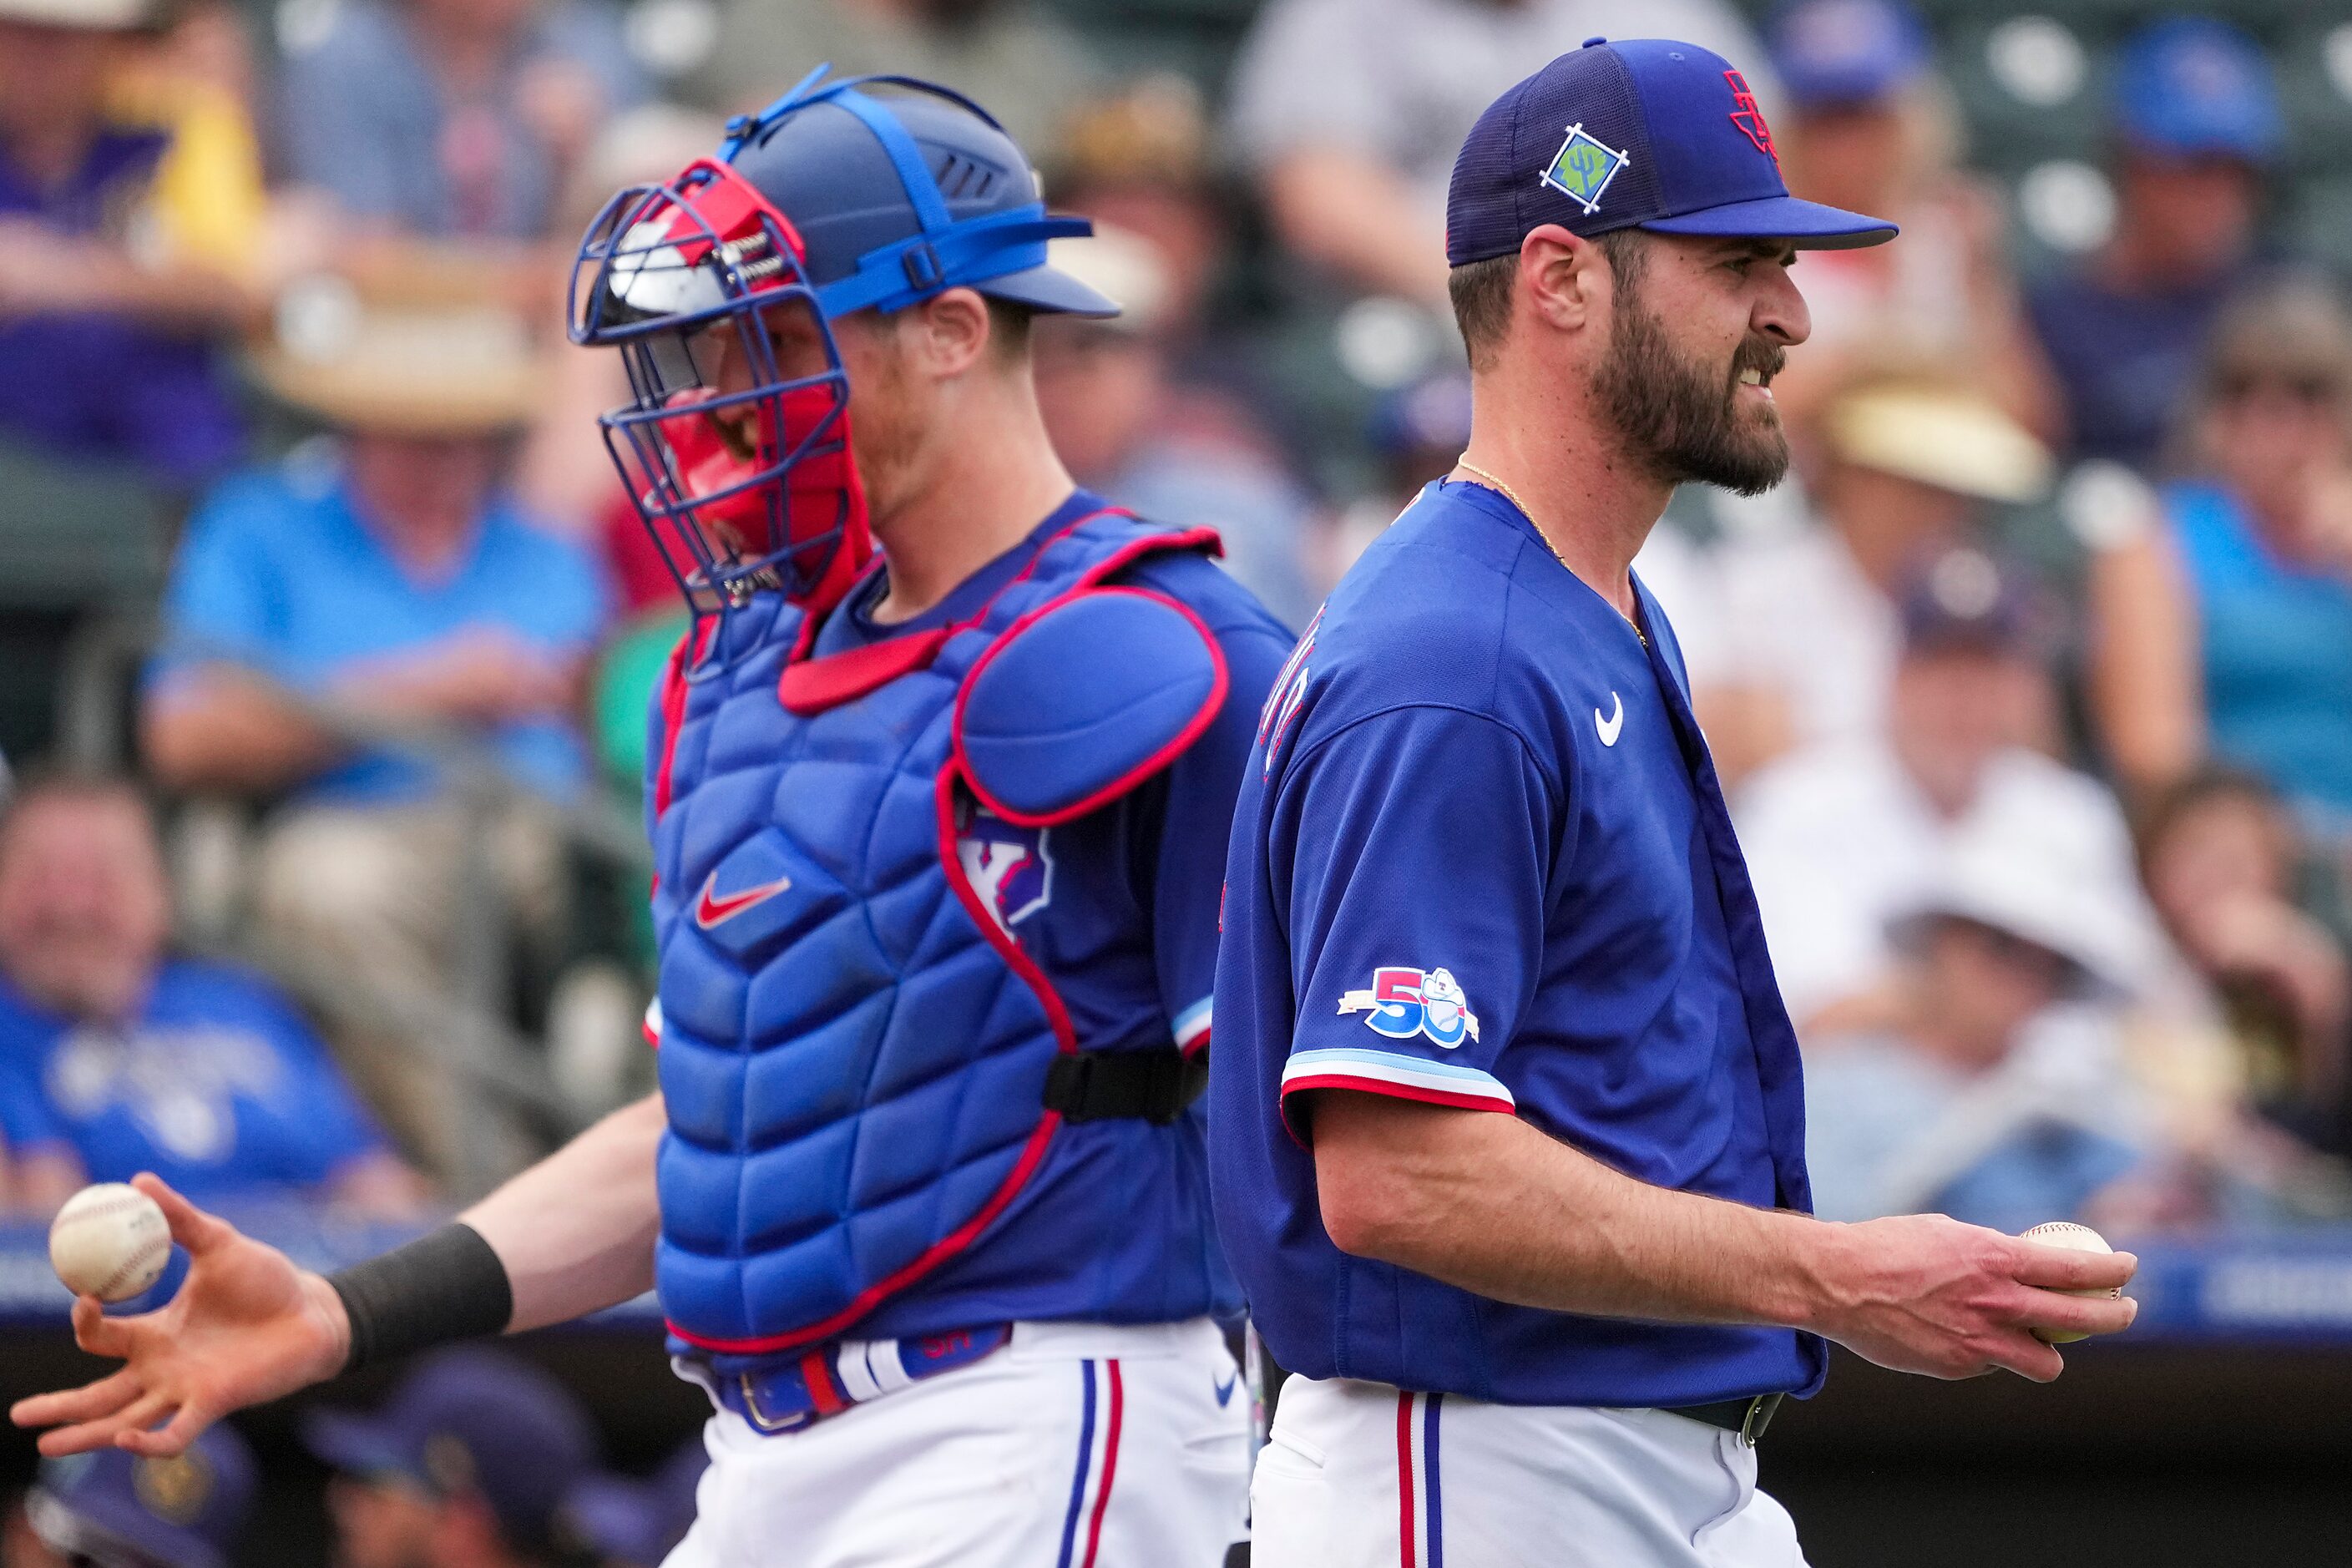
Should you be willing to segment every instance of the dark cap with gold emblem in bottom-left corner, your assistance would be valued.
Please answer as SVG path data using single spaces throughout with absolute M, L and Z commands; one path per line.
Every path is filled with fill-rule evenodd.
M 212 1427 L 176 1460 L 120 1448 L 47 1460 L 26 1495 L 33 1533 L 106 1568 L 228 1568 L 254 1505 L 254 1450 Z

